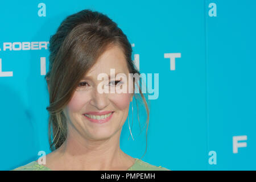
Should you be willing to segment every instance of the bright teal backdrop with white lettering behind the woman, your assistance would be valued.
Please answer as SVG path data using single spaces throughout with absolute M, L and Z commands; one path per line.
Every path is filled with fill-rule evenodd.
M 1 1 L 0 169 L 50 152 L 48 41 L 68 15 L 91 9 L 125 32 L 141 73 L 159 73 L 142 160 L 171 170 L 256 170 L 255 7 L 254 0 Z M 136 115 L 134 104 L 134 140 L 126 122 L 121 148 L 141 158 L 146 129 L 140 134 Z

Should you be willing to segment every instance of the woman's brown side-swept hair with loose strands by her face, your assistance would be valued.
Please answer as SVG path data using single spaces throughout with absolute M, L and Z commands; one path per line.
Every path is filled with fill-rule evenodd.
M 67 138 L 67 118 L 63 111 L 64 107 L 71 100 L 82 77 L 110 45 L 118 45 L 122 48 L 129 72 L 140 75 L 131 59 L 132 48 L 129 40 L 117 24 L 104 14 L 82 10 L 65 18 L 57 28 L 56 34 L 51 36 L 49 71 L 45 77 L 49 88 L 47 110 L 49 112 L 48 139 L 51 151 L 59 148 Z M 149 109 L 146 98 L 141 92 L 141 85 L 138 89 L 138 95 L 141 96 L 147 111 L 148 129 Z M 138 109 L 139 96 L 137 94 L 134 96 Z

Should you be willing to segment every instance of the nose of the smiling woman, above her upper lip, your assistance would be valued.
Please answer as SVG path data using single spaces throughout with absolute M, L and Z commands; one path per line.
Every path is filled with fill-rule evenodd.
M 99 93 L 97 88 L 93 89 L 90 104 L 98 110 L 103 110 L 109 105 L 108 93 Z

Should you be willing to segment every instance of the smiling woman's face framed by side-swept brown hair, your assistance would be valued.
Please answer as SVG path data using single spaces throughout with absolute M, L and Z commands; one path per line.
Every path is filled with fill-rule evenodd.
M 125 93 L 117 93 L 116 91 L 115 93 L 98 92 L 98 84 L 102 80 L 98 80 L 97 77 L 100 73 L 106 73 L 110 77 L 110 68 L 115 69 L 115 75 L 117 73 L 126 75 L 126 81 L 122 80 L 123 84 L 119 82 L 119 86 L 126 84 L 127 90 Z M 115 76 L 113 78 L 115 82 L 114 79 L 110 79 L 109 88 L 118 89 L 116 85 L 121 79 L 117 79 Z M 130 85 L 132 86 L 132 84 Z M 98 58 L 96 64 L 80 81 L 80 86 L 76 89 L 67 107 L 65 107 L 65 113 L 69 120 L 68 133 L 78 134 L 89 140 L 103 140 L 112 137 L 118 131 L 121 132 L 132 99 L 133 94 L 129 93 L 129 70 L 125 55 L 119 47 L 111 47 Z M 103 111 L 109 111 L 112 114 L 107 122 L 99 123 L 97 122 L 97 115 L 101 115 Z M 96 113 L 92 114 L 91 112 Z M 94 116 L 94 119 L 90 119 Z

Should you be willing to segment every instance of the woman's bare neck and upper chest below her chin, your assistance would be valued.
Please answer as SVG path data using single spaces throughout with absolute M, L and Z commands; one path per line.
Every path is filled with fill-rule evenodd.
M 119 147 L 120 135 L 121 130 L 108 139 L 92 140 L 72 132 L 56 153 L 64 168 L 75 170 L 117 170 L 132 166 L 133 158 Z

